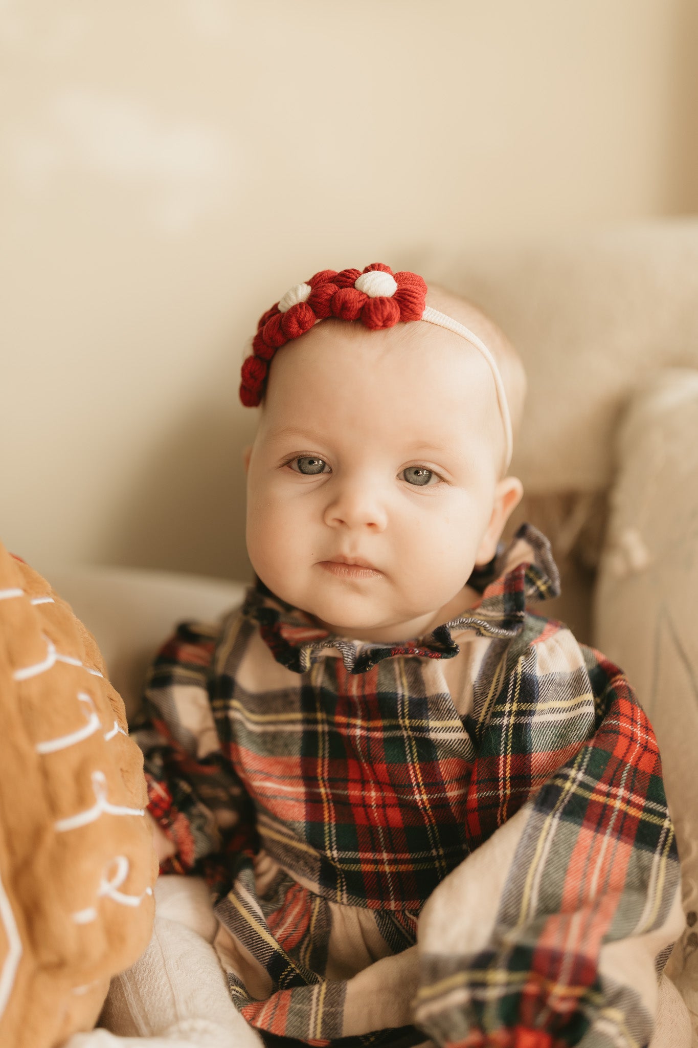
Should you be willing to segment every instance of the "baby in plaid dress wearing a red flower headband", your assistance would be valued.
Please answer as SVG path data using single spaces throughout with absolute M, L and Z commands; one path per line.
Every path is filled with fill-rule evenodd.
M 161 870 L 206 877 L 270 1043 L 650 1041 L 674 832 L 625 677 L 526 610 L 547 541 L 499 546 L 524 386 L 490 320 L 385 265 L 260 322 L 257 582 L 162 649 L 141 744 Z

